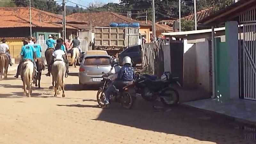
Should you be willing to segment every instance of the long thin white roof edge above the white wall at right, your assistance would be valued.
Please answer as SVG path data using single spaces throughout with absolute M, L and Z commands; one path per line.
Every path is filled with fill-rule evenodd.
M 241 27 L 244 25 L 242 24 Z M 240 27 L 238 25 L 238 27 Z M 214 28 L 214 31 L 225 30 L 225 27 Z M 170 32 L 170 33 L 162 33 L 164 36 L 180 36 L 180 35 L 191 35 L 191 34 L 200 34 L 200 33 L 209 33 L 212 32 L 212 29 L 201 29 L 201 30 L 191 30 L 191 31 L 181 31 L 181 32 Z

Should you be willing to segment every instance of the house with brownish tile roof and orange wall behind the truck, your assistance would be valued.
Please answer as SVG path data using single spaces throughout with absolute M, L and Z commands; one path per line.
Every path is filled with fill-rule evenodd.
M 140 34 L 145 36 L 147 42 L 150 42 L 150 34 L 152 34 L 152 26 L 150 24 L 133 20 L 115 12 L 74 13 L 69 15 L 68 18 L 87 21 L 92 24 L 92 27 L 109 27 L 112 22 L 140 23 Z

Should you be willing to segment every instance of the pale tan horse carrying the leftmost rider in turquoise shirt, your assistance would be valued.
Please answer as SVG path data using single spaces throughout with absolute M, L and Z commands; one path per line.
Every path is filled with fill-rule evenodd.
M 24 96 L 30 97 L 32 93 L 32 83 L 34 77 L 34 64 L 31 61 L 25 61 L 21 64 L 21 80 L 23 82 Z M 27 92 L 28 90 L 28 92 Z

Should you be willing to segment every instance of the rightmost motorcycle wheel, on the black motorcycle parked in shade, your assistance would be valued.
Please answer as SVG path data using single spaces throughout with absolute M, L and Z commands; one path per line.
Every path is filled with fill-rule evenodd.
M 167 88 L 163 90 L 163 92 L 160 93 L 160 98 L 162 103 L 167 106 L 177 105 L 180 100 L 178 91 L 173 88 Z

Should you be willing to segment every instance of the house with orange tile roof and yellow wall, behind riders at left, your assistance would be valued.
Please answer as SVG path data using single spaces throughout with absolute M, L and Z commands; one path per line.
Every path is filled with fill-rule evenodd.
M 14 58 L 19 56 L 22 38 L 30 36 L 29 7 L 0 8 L 0 39 L 6 38 Z M 62 35 L 62 15 L 31 8 L 32 36 L 42 42 L 51 34 Z M 67 18 L 67 23 L 86 24 L 85 21 Z M 67 36 L 77 35 L 78 29 L 67 26 Z M 43 43 L 42 43 L 43 45 Z

